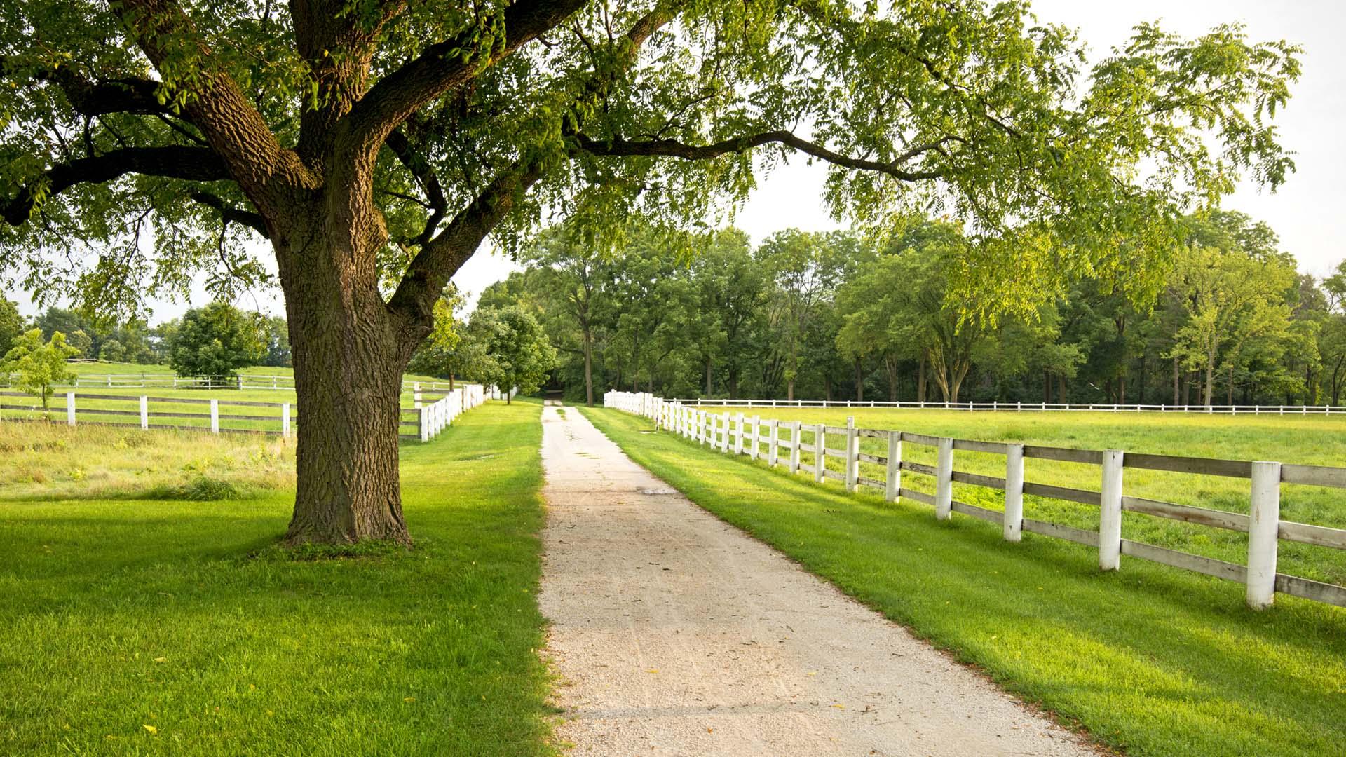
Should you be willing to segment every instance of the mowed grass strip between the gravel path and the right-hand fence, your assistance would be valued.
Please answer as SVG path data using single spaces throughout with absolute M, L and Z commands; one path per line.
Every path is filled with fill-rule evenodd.
M 1346 744 L 1346 610 L 1291 597 L 1254 613 L 1241 585 L 917 502 L 847 494 L 707 451 L 621 411 L 586 415 L 725 521 L 1007 690 L 1135 756 L 1329 756 Z M 882 714 L 880 714 L 882 717 Z

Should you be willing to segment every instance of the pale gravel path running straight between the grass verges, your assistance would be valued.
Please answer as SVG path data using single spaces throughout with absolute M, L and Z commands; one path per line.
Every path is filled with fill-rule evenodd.
M 1096 754 L 542 411 L 541 606 L 575 754 Z

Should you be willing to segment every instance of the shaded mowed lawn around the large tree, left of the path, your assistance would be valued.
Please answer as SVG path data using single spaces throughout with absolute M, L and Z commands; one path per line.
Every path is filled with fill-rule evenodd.
M 0 502 L 0 753 L 548 753 L 538 412 L 402 447 L 411 551 L 283 551 L 291 492 Z

